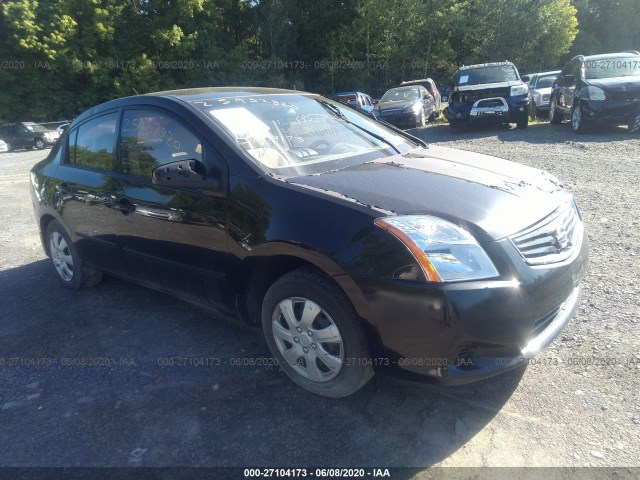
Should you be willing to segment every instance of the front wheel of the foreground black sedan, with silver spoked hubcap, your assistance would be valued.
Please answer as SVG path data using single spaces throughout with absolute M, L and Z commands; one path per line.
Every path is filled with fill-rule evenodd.
M 298 310 L 293 314 L 294 322 L 290 328 L 290 323 L 285 319 L 285 315 L 282 313 L 284 310 L 281 308 L 281 302 L 286 305 L 287 300 L 291 302 L 289 305 L 295 305 L 296 308 L 306 308 L 310 303 L 319 307 L 322 312 L 314 315 L 311 322 L 307 322 L 307 325 L 312 325 L 307 330 L 307 327 L 303 325 L 301 312 Z M 296 308 L 292 311 L 296 312 Z M 325 326 L 323 327 L 318 322 L 324 322 Z M 281 332 L 285 332 L 291 342 L 287 340 L 283 342 L 282 339 L 285 337 L 282 335 L 276 340 L 274 327 L 278 327 L 278 324 Z M 294 326 L 301 327 L 299 333 L 292 328 Z M 335 331 L 333 329 L 335 326 L 340 338 L 339 348 L 337 350 L 334 348 L 330 352 L 331 358 L 342 359 L 339 367 L 335 367 L 333 370 L 326 367 L 328 363 L 323 363 L 322 358 L 328 358 L 323 356 L 327 354 L 327 349 L 331 346 L 336 347 L 338 344 L 329 345 L 316 340 L 322 328 L 327 328 L 327 326 L 331 327 L 333 331 Z M 313 268 L 302 267 L 289 272 L 271 285 L 262 303 L 262 328 L 267 344 L 274 357 L 278 359 L 284 373 L 309 392 L 331 398 L 346 397 L 362 388 L 373 376 L 369 352 L 355 310 L 340 288 Z M 307 334 L 312 331 L 316 332 L 315 336 Z M 276 342 L 279 342 L 281 347 Z M 317 342 L 317 345 L 312 342 Z M 309 348 L 307 349 L 307 347 Z M 289 362 L 285 360 L 280 348 L 283 348 L 285 353 L 289 352 L 287 355 Z M 302 349 L 305 349 L 307 353 L 302 353 Z M 320 353 L 321 351 L 323 353 Z M 316 354 L 316 352 L 318 353 Z M 297 360 L 292 361 L 292 358 Z M 314 359 L 313 368 L 307 368 L 308 358 Z M 336 365 L 333 362 L 332 364 Z M 323 372 L 320 367 L 329 371 Z M 320 371 L 320 374 L 327 375 L 327 378 L 312 380 L 309 378 L 310 375 L 305 373 L 311 374 L 312 371 Z

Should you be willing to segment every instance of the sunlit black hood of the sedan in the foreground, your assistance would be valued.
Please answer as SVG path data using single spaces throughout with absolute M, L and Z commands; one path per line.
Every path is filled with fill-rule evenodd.
M 439 146 L 287 181 L 398 215 L 435 215 L 481 241 L 519 232 L 570 198 L 542 170 Z

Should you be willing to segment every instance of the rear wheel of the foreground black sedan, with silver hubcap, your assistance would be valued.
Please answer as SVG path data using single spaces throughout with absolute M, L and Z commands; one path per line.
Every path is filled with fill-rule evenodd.
M 64 245 L 58 243 L 60 237 L 64 240 Z M 56 277 L 65 288 L 80 290 L 81 288 L 91 287 L 100 283 L 102 273 L 84 264 L 74 243 L 69 238 L 64 227 L 57 220 L 51 221 L 47 226 L 45 239 L 47 253 L 51 258 Z M 54 243 L 58 243 L 58 246 L 56 247 Z M 70 263 L 65 262 L 67 265 L 66 269 L 60 266 L 60 262 L 63 262 L 62 256 L 71 259 Z M 69 272 L 71 275 L 66 275 Z

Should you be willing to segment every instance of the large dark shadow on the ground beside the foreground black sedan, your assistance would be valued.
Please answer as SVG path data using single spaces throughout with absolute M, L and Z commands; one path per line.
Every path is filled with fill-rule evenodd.
M 455 388 L 376 376 L 326 399 L 259 360 L 259 332 L 167 295 L 112 278 L 71 292 L 46 260 L 0 287 L 4 466 L 422 468 L 482 430 L 524 373 Z

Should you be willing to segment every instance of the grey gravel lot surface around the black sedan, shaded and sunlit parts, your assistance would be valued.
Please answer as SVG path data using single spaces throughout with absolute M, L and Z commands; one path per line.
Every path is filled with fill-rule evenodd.
M 307 394 L 275 367 L 246 365 L 268 356 L 252 331 L 115 279 L 59 286 L 28 192 L 46 152 L 0 154 L 0 465 L 605 466 L 637 478 L 640 137 L 549 124 L 413 132 L 548 170 L 577 199 L 591 240 L 581 305 L 526 370 Z

